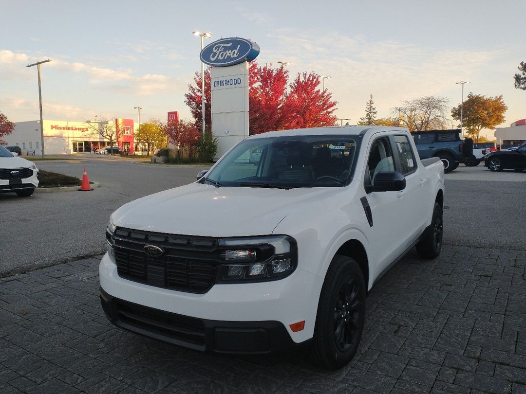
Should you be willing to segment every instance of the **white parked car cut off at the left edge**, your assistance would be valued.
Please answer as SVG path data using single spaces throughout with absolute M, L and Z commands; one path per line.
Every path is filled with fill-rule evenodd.
M 35 163 L 0 146 L 0 193 L 14 192 L 28 197 L 37 187 L 38 169 Z

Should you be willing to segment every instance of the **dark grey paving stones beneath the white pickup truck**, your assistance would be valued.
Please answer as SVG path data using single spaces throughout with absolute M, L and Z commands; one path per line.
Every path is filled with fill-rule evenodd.
M 90 258 L 0 279 L 2 393 L 526 393 L 526 252 L 410 254 L 367 299 L 359 353 L 220 357 L 114 328 Z

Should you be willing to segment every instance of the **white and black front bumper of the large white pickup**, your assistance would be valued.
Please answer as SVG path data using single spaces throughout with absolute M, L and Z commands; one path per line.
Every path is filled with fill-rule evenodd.
M 299 267 L 272 282 L 216 284 L 205 294 L 118 276 L 104 255 L 101 302 L 116 326 L 201 351 L 265 353 L 312 338 L 322 279 Z M 296 333 L 290 324 L 305 320 Z M 197 331 L 196 331 L 197 330 Z

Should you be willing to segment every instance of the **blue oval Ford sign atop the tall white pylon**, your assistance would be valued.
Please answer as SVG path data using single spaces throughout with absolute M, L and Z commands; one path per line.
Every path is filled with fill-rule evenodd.
M 209 66 L 226 67 L 254 60 L 259 45 L 244 38 L 221 38 L 201 50 L 201 61 Z

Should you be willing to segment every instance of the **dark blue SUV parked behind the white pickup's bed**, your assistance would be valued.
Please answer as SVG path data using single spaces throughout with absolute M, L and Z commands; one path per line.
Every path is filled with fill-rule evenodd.
M 459 163 L 473 154 L 473 140 L 462 140 L 460 129 L 415 131 L 411 134 L 420 159 L 439 157 L 446 173 L 456 169 Z

